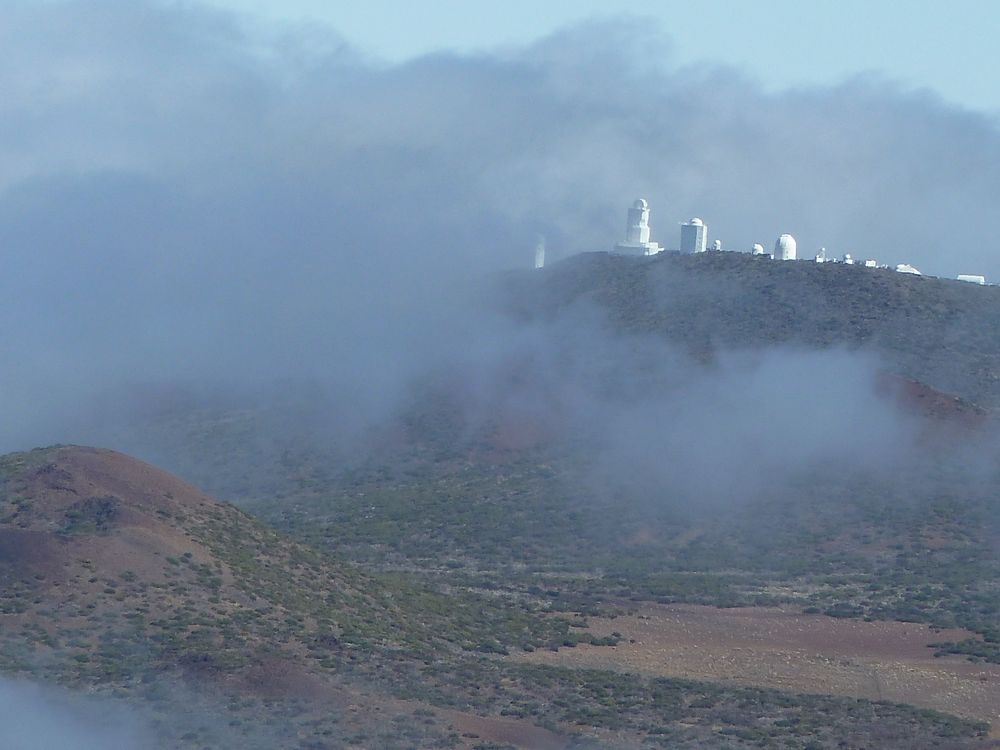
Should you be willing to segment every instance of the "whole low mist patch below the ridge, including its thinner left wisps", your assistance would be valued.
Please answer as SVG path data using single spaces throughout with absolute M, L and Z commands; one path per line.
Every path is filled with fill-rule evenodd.
M 612 331 L 587 307 L 451 368 L 466 429 L 572 446 L 584 494 L 675 508 L 749 501 L 798 477 L 898 473 L 921 428 L 879 387 L 870 353 L 792 347 L 709 363 Z

